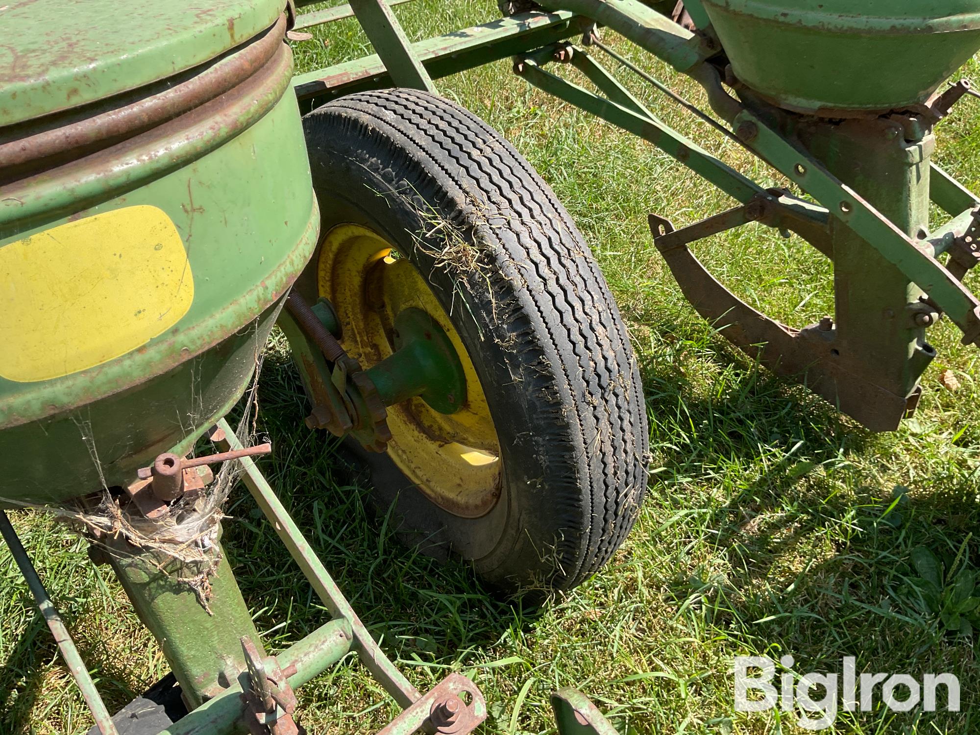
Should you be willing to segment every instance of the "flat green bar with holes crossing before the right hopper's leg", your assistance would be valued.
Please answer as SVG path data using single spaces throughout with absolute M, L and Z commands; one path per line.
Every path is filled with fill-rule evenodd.
M 925 291 L 963 332 L 963 344 L 980 340 L 980 302 L 949 270 L 851 187 L 751 112 L 742 112 L 733 126 L 743 133 L 749 131 L 740 137 L 764 161 L 826 206 L 834 218 L 850 227 Z

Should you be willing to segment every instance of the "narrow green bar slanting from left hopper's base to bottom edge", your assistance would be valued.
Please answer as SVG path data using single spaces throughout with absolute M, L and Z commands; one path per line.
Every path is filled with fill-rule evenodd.
M 241 442 L 238 441 L 238 437 L 235 436 L 225 419 L 221 418 L 218 421 L 218 427 L 224 432 L 224 440 L 220 444 L 223 443 L 231 449 L 242 449 Z M 286 512 L 285 507 L 276 497 L 255 462 L 250 457 L 244 457 L 240 462 L 245 470 L 241 477 L 242 482 L 252 493 L 252 497 L 255 498 L 259 508 L 269 518 L 275 532 L 282 539 L 286 548 L 289 549 L 290 556 L 303 570 L 303 574 L 310 581 L 323 605 L 334 617 L 344 618 L 350 623 L 354 638 L 353 647 L 357 650 L 361 662 L 368 667 L 374 678 L 381 683 L 385 691 L 401 707 L 410 707 L 421 697 L 421 694 L 395 667 L 395 664 L 388 660 L 388 657 L 371 638 L 368 628 L 351 608 L 351 604 L 344 598 L 340 588 L 337 587 L 337 583 L 333 581 L 333 577 L 327 572 L 323 563 L 319 561 L 313 547 L 303 537 L 300 529 Z

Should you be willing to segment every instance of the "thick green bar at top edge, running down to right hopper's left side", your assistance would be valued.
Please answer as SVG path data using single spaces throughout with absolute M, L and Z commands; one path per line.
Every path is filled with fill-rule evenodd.
M 572 13 L 608 25 L 678 72 L 687 72 L 718 52 L 711 38 L 695 35 L 639 0 L 537 0 L 549 10 Z

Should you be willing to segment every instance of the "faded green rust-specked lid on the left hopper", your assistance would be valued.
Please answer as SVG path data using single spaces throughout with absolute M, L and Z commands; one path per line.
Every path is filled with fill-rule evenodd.
M 207 62 L 268 28 L 285 0 L 0 0 L 0 126 Z

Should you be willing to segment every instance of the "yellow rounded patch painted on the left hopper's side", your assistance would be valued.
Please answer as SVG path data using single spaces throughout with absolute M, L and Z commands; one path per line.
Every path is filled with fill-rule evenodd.
M 0 377 L 49 380 L 125 355 L 190 309 L 180 233 L 147 205 L 0 247 Z

